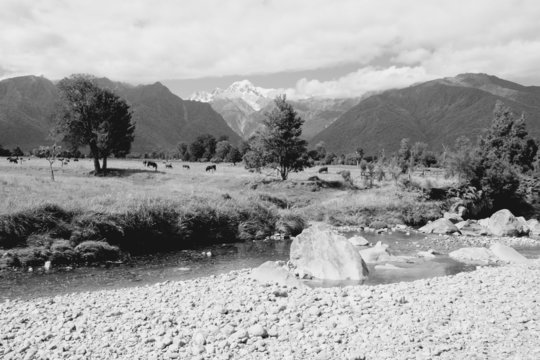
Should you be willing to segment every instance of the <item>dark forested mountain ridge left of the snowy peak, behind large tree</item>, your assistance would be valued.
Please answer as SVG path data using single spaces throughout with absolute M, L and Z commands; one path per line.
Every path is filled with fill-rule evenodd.
M 179 142 L 190 143 L 205 133 L 240 142 L 209 104 L 182 100 L 159 82 L 134 86 L 106 78 L 97 81 L 132 108 L 136 122 L 132 152 L 174 149 Z M 57 100 L 58 90 L 48 79 L 24 76 L 0 81 L 0 144 L 30 150 L 50 143 L 49 114 Z

